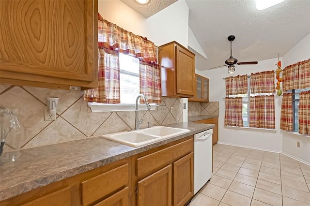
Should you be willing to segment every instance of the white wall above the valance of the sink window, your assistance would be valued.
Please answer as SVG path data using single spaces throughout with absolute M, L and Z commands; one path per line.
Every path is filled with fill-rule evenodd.
M 98 0 L 98 12 L 104 19 L 157 46 L 176 41 L 187 47 L 189 11 L 185 0 L 176 1 L 147 19 L 120 0 Z

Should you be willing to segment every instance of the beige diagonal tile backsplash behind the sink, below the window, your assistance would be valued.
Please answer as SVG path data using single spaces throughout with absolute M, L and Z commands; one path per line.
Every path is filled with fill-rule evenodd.
M 0 85 L 0 103 L 8 108 L 20 108 L 19 121 L 25 129 L 22 149 L 134 129 L 134 111 L 87 112 L 83 94 L 83 91 Z M 59 97 L 54 121 L 44 120 L 46 97 Z M 148 121 L 152 126 L 183 121 L 182 99 L 162 97 L 161 105 L 167 107 L 164 112 L 139 112 L 143 116 L 141 128 L 146 127 Z M 6 144 L 4 152 L 12 149 Z

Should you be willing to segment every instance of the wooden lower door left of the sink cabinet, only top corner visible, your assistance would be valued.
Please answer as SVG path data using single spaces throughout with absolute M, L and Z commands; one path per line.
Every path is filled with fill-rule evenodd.
M 129 206 L 129 189 L 125 189 L 113 194 L 107 199 L 94 206 Z

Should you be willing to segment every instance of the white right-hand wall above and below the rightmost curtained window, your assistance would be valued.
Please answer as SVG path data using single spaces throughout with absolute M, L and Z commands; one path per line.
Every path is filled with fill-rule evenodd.
M 310 58 L 310 34 L 290 49 L 284 56 L 282 61 L 283 68 Z M 298 134 L 283 133 L 282 151 L 286 154 L 294 156 L 297 159 L 310 162 L 310 137 Z M 296 147 L 297 141 L 300 147 Z

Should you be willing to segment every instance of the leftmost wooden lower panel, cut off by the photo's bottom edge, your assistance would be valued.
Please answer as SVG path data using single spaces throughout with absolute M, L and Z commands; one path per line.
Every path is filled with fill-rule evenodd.
M 70 206 L 71 205 L 71 191 L 70 187 L 55 191 L 46 196 L 40 197 L 23 206 Z

